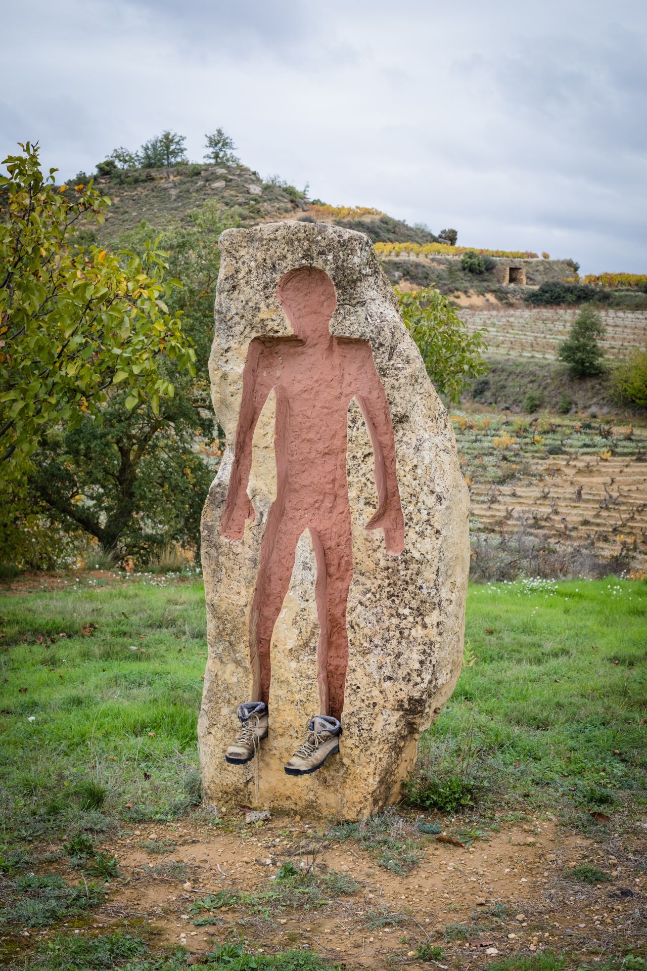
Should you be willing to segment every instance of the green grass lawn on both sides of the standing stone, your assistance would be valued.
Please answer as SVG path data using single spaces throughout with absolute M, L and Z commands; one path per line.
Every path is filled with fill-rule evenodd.
M 199 798 L 202 584 L 75 586 L 0 598 L 9 841 L 170 820 Z M 455 791 L 470 747 L 476 802 L 502 787 L 585 815 L 644 805 L 647 583 L 472 585 L 467 636 L 476 660 L 422 739 L 426 808 Z M 335 835 L 364 839 L 382 866 L 414 865 L 412 834 L 393 820 L 346 829 Z

